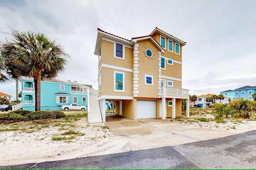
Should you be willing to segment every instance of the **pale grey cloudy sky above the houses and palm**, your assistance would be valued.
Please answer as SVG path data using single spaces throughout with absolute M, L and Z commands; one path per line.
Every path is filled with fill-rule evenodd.
M 126 39 L 158 28 L 187 42 L 182 88 L 219 94 L 256 86 L 255 0 L 0 0 L 0 31 L 45 33 L 71 56 L 58 79 L 97 88 L 97 27 Z M 7 34 L 0 33 L 0 41 Z M 0 92 L 15 99 L 15 83 Z

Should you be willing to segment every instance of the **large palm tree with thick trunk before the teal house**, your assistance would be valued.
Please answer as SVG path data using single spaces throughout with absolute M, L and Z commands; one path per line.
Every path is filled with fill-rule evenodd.
M 56 41 L 42 33 L 12 29 L 13 39 L 0 43 L 0 58 L 9 78 L 31 77 L 35 83 L 35 109 L 40 110 L 41 79 L 53 78 L 65 70 L 69 55 Z M 6 76 L 2 77 L 6 80 Z

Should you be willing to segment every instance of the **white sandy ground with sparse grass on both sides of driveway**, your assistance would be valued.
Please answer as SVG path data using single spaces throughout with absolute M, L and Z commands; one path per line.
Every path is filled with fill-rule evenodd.
M 236 133 L 256 130 L 256 121 L 226 119 L 227 123 L 216 123 L 215 121 L 203 122 L 196 120 L 199 117 L 214 118 L 212 114 L 203 111 L 191 115 L 190 118 L 172 121 L 201 127 L 202 129 L 236 131 Z M 19 127 L 19 130 L 3 131 L 5 128 L 12 129 L 16 127 Z M 62 135 L 62 133 L 69 130 L 76 131 L 78 134 Z M 61 141 L 52 140 L 52 137 L 68 138 L 72 136 L 75 138 Z M 64 124 L 63 122 L 59 124 L 58 121 L 2 124 L 0 127 L 0 166 L 126 152 L 132 150 L 129 140 L 134 139 L 114 136 L 104 126 L 88 125 L 86 117 Z

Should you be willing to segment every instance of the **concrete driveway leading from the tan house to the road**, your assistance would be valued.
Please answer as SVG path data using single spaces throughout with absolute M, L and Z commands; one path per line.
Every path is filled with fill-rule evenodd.
M 106 116 L 105 124 L 114 135 L 129 140 L 132 150 L 180 145 L 237 134 L 156 118 L 134 121 L 119 115 Z

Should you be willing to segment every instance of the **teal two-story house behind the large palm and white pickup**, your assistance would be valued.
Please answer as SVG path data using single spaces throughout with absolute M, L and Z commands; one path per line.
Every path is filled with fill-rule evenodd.
M 61 105 L 80 104 L 88 108 L 88 94 L 90 85 L 78 84 L 76 81 L 62 81 L 58 79 L 41 81 L 41 110 L 60 110 Z M 34 80 L 23 78 L 16 82 L 16 93 L 21 92 L 23 110 L 35 110 Z

